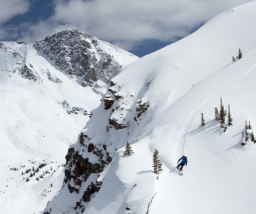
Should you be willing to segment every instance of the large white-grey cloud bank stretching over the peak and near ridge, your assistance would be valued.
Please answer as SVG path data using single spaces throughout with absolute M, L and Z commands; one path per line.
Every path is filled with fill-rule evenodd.
M 55 0 L 54 14 L 28 26 L 21 37 L 31 42 L 59 30 L 78 28 L 131 50 L 147 39 L 168 42 L 185 37 L 217 14 L 249 1 Z

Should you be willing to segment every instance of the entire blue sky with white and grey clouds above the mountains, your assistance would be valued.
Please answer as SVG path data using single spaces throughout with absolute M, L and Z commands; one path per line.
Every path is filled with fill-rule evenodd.
M 0 40 L 33 43 L 77 28 L 143 57 L 250 0 L 1 0 Z

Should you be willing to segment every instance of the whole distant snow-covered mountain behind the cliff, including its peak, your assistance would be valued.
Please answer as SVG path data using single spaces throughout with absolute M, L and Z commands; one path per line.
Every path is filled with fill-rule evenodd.
M 77 30 L 60 33 L 65 37 L 70 32 Z M 58 67 L 57 61 L 44 55 L 41 49 L 45 49 L 39 46 L 42 41 L 37 42 L 40 50 L 28 43 L 0 42 L 0 213 L 44 211 L 62 186 L 66 150 L 76 141 L 92 110 L 100 105 L 107 79 L 138 59 L 109 43 L 90 38 L 99 46 L 104 44 L 104 48 L 98 48 L 102 51 L 102 65 L 104 60 L 109 62 L 101 66 L 100 72 L 105 76 L 93 79 L 93 87 L 82 87 L 78 74 L 71 78 Z M 68 48 L 63 38 L 58 43 L 67 50 L 73 48 Z M 82 51 L 78 49 L 77 54 Z M 80 54 L 95 57 L 93 51 Z M 50 57 L 57 60 L 53 54 Z M 73 57 L 63 57 L 63 64 L 74 61 Z M 95 66 L 91 61 L 86 64 L 82 58 L 81 62 L 87 67 Z

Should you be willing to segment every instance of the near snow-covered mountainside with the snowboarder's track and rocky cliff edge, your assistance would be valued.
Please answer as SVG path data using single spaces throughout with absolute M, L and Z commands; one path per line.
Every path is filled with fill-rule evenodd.
M 255 213 L 255 11 L 252 1 L 223 12 L 111 79 L 68 149 L 62 190 L 45 213 Z M 232 61 L 239 48 L 243 57 Z M 214 119 L 221 99 L 232 126 L 228 116 L 223 128 Z

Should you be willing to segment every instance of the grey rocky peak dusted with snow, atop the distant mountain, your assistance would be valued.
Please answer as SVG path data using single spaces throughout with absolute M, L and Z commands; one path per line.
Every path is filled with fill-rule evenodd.
M 99 79 L 109 83 L 123 66 L 138 59 L 125 50 L 75 29 L 36 41 L 34 47 L 44 52 L 66 75 L 82 77 L 82 86 L 91 86 Z

